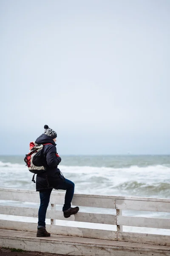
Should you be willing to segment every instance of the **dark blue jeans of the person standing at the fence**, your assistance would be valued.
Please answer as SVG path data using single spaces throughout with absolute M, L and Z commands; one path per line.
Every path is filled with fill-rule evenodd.
M 58 189 L 66 190 L 65 202 L 62 210 L 68 210 L 71 207 L 71 201 L 74 195 L 74 183 L 71 180 L 65 179 L 65 186 L 60 185 Z M 53 189 L 45 189 L 40 191 L 40 208 L 38 211 L 38 226 L 45 227 L 45 216 L 47 212 L 47 207 L 50 201 L 51 191 Z

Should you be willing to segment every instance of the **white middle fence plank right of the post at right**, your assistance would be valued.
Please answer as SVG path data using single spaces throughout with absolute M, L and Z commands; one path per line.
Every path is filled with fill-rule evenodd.
M 153 227 L 153 228 L 170 229 L 170 219 L 161 219 L 161 218 L 117 216 L 117 224 L 132 226 L 132 227 Z

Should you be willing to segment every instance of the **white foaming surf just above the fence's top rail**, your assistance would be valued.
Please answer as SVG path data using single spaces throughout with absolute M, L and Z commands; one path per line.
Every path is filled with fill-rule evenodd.
M 76 191 L 94 194 L 119 194 L 169 197 L 170 167 L 130 166 L 124 168 L 59 166 L 65 178 L 72 180 Z M 0 162 L 0 186 L 34 189 L 32 173 L 24 164 Z

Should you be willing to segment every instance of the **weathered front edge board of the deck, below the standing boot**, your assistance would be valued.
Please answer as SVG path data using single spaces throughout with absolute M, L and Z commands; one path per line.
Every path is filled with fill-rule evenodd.
M 119 245 L 103 246 L 91 244 L 63 243 L 57 241 L 48 241 L 48 239 L 28 239 L 14 237 L 0 237 L 2 247 L 16 248 L 26 251 L 34 251 L 37 253 L 57 253 L 57 255 L 74 255 L 74 256 L 170 256 L 168 250 L 155 249 L 140 249 L 133 247 L 120 247 Z

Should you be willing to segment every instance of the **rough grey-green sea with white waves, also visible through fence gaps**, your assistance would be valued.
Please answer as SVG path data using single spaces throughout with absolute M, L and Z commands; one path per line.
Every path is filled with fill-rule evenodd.
M 75 183 L 75 193 L 170 198 L 170 155 L 61 157 L 59 169 L 67 179 Z M 32 174 L 28 171 L 23 158 L 24 156 L 0 156 L 0 187 L 35 189 L 35 184 L 31 181 Z M 1 200 L 0 205 L 14 205 L 14 202 Z M 16 202 L 15 205 L 39 207 L 38 204 L 27 202 Z M 61 209 L 61 206 L 57 207 Z M 93 208 L 81 208 L 82 211 L 93 212 Z M 101 213 L 108 211 L 98 209 Z M 170 213 L 163 212 L 123 211 L 123 215 L 170 219 Z M 0 215 L 0 219 L 37 222 L 37 218 L 9 215 Z M 49 220 L 46 221 L 48 222 Z M 58 223 L 60 222 L 68 224 L 68 221 Z M 111 229 L 109 226 L 111 225 L 105 225 L 106 229 Z M 95 224 L 94 228 L 99 228 L 99 224 Z M 123 227 L 123 230 L 170 235 L 170 230 L 153 228 Z

